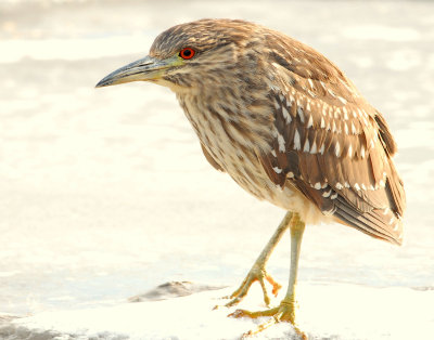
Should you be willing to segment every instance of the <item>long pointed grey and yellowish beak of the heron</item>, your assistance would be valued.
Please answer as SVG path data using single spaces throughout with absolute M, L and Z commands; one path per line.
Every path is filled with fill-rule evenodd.
M 119 69 L 111 73 L 97 83 L 95 88 L 103 88 L 130 81 L 146 81 L 161 78 L 165 70 L 175 66 L 175 60 L 158 60 L 156 57 L 146 56 L 131 64 L 125 65 Z

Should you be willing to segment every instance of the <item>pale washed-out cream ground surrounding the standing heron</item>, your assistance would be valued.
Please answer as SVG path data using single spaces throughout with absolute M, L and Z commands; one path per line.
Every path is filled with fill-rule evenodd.
M 168 90 L 142 83 L 93 89 L 107 73 L 145 55 L 159 31 L 201 17 L 258 22 L 323 52 L 384 113 L 398 142 L 407 243 L 396 248 L 339 225 L 308 227 L 299 280 L 306 291 L 301 314 L 311 338 L 409 339 L 398 335 L 411 331 L 431 338 L 429 1 L 2 1 L 0 338 L 23 338 L 16 331 L 24 327 L 30 339 L 200 339 L 207 329 L 210 338 L 231 339 L 251 327 L 226 321 L 224 312 L 205 312 L 221 291 L 125 303 L 171 280 L 237 285 L 284 213 L 209 167 Z M 288 267 L 284 239 L 269 271 L 284 283 Z M 322 296 L 333 302 L 321 303 Z M 173 325 L 179 313 L 171 308 L 191 305 L 189 330 L 161 326 L 158 303 L 169 304 L 157 309 L 168 311 L 166 324 Z M 116 314 L 97 323 L 98 315 L 120 310 L 128 315 L 124 326 Z M 318 311 L 328 313 L 323 323 Z M 373 321 L 379 311 L 383 326 Z M 25 315 L 30 317 L 11 324 L 12 316 Z M 138 315 L 148 321 L 140 327 Z M 339 326 L 340 318 L 349 326 Z M 229 330 L 216 332 L 221 328 Z M 264 337 L 291 336 L 277 329 Z

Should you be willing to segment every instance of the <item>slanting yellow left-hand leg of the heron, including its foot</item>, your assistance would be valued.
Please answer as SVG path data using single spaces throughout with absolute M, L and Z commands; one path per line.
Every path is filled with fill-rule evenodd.
M 290 226 L 291 220 L 293 218 L 293 213 L 291 211 L 286 212 L 285 217 L 283 218 L 282 222 L 280 222 L 277 231 L 271 236 L 270 240 L 268 241 L 267 246 L 265 246 L 264 250 L 260 252 L 259 257 L 253 264 L 251 271 L 248 272 L 247 276 L 244 278 L 241 286 L 229 296 L 231 301 L 229 301 L 226 306 L 232 306 L 238 304 L 244 297 L 247 295 L 248 289 L 251 288 L 254 282 L 259 282 L 260 287 L 263 288 L 264 292 L 264 302 L 266 305 L 270 303 L 270 298 L 267 293 L 267 288 L 265 286 L 264 278 L 272 286 L 272 293 L 277 296 L 281 286 L 275 282 L 275 279 L 267 273 L 265 266 L 268 262 L 268 259 L 271 256 L 272 250 L 276 248 L 279 240 L 282 238 L 282 235 Z

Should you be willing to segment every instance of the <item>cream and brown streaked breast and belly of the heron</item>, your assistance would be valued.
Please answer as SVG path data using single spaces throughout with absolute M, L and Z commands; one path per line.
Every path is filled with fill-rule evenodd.
M 318 220 L 319 210 L 290 183 L 281 188 L 270 181 L 258 159 L 258 153 L 269 151 L 273 139 L 273 122 L 266 115 L 269 108 L 261 105 L 260 99 L 252 102 L 255 105 L 242 107 L 243 115 L 235 116 L 230 101 L 228 107 L 221 107 L 193 95 L 178 94 L 177 97 L 201 141 L 205 157 L 215 168 L 227 172 L 255 197 L 299 211 L 311 222 Z M 258 135 L 261 138 L 257 139 Z

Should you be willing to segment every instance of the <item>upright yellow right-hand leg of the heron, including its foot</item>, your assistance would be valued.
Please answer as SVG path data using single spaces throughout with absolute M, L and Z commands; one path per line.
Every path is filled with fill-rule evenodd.
M 291 323 L 295 331 L 302 337 L 302 339 L 307 339 L 306 335 L 301 331 L 295 325 L 295 309 L 296 309 L 296 300 L 295 300 L 295 287 L 297 283 L 297 271 L 298 271 L 298 259 L 299 259 L 299 250 L 302 246 L 303 232 L 305 230 L 305 223 L 299 219 L 297 213 L 293 214 L 293 219 L 290 223 L 291 230 L 291 270 L 290 270 L 290 282 L 288 286 L 286 296 L 280 302 L 280 305 L 275 309 L 270 309 L 267 311 L 258 311 L 258 312 L 250 312 L 245 310 L 237 310 L 229 316 L 233 317 L 261 317 L 261 316 L 271 316 L 271 318 L 257 327 L 255 330 L 251 330 L 246 332 L 244 336 L 255 335 L 269 326 L 279 323 L 279 322 L 288 322 Z

